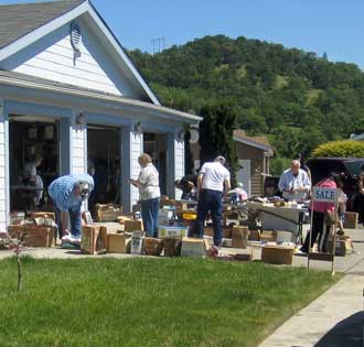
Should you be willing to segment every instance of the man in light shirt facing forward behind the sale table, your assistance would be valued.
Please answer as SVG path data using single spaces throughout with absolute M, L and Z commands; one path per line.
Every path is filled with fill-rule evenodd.
M 300 167 L 300 162 L 293 160 L 291 169 L 286 170 L 279 178 L 278 188 L 287 200 L 304 200 L 311 189 L 311 181 Z

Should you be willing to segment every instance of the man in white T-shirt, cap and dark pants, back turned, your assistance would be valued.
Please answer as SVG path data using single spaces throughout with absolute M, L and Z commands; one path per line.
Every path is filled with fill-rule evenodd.
M 197 221 L 196 236 L 203 238 L 207 212 L 214 227 L 214 245 L 222 243 L 223 195 L 231 189 L 231 174 L 224 166 L 225 158 L 217 156 L 214 162 L 205 163 L 197 177 Z

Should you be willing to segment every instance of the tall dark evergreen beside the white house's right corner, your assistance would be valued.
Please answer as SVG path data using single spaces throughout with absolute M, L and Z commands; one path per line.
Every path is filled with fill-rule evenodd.
M 233 140 L 236 129 L 236 113 L 232 106 L 206 106 L 201 110 L 203 120 L 200 122 L 200 160 L 203 163 L 213 161 L 217 155 L 225 156 L 231 170 L 232 183 L 238 167 L 235 143 Z

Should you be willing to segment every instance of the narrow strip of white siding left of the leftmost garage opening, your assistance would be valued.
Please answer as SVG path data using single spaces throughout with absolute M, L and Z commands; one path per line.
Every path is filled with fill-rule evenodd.
M 0 100 L 0 231 L 7 230 L 7 169 L 4 108 Z

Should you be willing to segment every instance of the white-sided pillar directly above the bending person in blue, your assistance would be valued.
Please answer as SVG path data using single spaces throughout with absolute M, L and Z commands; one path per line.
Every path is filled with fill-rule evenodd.
M 73 111 L 69 124 L 69 173 L 87 173 L 87 129 L 85 117 Z

